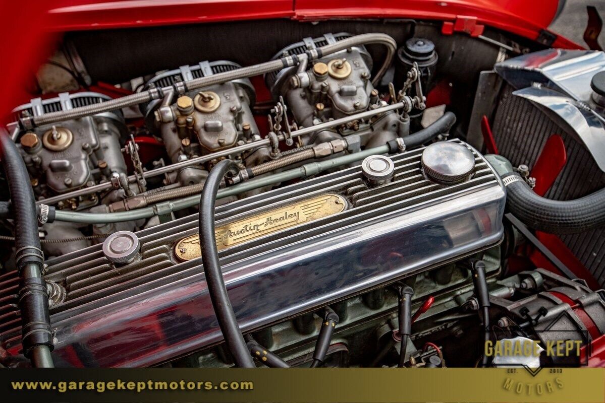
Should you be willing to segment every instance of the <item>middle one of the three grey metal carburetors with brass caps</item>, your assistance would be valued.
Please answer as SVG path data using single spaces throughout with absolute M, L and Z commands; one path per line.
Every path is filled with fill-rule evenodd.
M 239 67 L 224 60 L 181 66 L 157 74 L 145 88 L 172 86 L 183 80 Z M 159 132 L 172 163 L 228 149 L 258 135 L 250 109 L 255 102 L 255 91 L 249 79 L 188 91 L 174 98 L 171 105 L 163 105 L 162 100 L 156 100 L 142 106 L 148 127 L 155 127 Z M 206 170 L 188 168 L 180 172 L 178 180 L 181 184 L 194 184 L 201 182 L 206 175 Z

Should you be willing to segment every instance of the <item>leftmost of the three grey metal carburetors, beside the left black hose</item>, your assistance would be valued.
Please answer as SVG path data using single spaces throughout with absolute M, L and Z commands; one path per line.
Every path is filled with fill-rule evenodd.
M 57 98 L 35 98 L 13 112 L 39 116 L 110 99 L 96 92 L 65 92 Z M 102 179 L 125 176 L 126 163 L 121 151 L 125 135 L 122 112 L 113 111 L 36 127 L 21 133 L 16 140 L 34 192 L 48 197 L 92 186 Z M 78 209 L 96 204 L 97 199 L 93 194 L 70 202 L 71 208 Z

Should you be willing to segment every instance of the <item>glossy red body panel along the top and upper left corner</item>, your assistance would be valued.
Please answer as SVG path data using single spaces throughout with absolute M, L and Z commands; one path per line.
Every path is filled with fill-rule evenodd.
M 489 25 L 536 39 L 555 17 L 558 0 L 22 0 L 2 2 L 0 51 L 4 63 L 0 85 L 0 116 L 27 102 L 25 80 L 53 50 L 59 33 L 73 30 L 131 28 L 150 25 L 192 24 L 237 19 L 291 18 L 419 18 L 456 21 L 476 18 Z M 27 13 L 24 12 L 27 10 Z M 578 48 L 558 36 L 554 47 Z

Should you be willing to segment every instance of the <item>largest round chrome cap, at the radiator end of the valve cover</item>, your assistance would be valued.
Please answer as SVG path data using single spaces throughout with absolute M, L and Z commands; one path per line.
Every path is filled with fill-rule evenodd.
M 422 169 L 435 182 L 465 181 L 473 173 L 475 156 L 465 146 L 450 141 L 433 143 L 422 152 Z

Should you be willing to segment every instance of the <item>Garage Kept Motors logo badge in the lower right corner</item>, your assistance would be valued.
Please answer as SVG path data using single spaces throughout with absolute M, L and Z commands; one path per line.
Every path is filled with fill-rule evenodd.
M 496 367 L 523 367 L 532 376 L 544 367 L 587 366 L 591 353 L 587 330 L 574 327 L 566 312 L 546 326 L 536 326 L 540 316 L 529 318 L 529 326 L 511 326 L 507 331 L 492 329 L 495 341 L 486 341 L 483 353 Z M 530 332 L 532 338 L 528 337 Z M 518 336 L 512 337 L 514 334 Z

